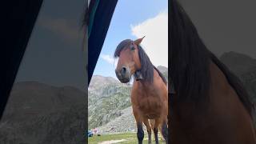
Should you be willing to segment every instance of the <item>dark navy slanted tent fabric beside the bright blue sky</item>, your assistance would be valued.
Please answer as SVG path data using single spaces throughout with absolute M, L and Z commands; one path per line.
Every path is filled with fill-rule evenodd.
M 94 14 L 90 14 L 90 17 L 94 18 L 90 18 L 93 22 L 90 22 L 92 26 L 89 30 L 90 35 L 88 38 L 88 84 L 94 73 L 117 2 L 118 0 L 100 0 L 98 3 L 94 2 L 98 6 Z

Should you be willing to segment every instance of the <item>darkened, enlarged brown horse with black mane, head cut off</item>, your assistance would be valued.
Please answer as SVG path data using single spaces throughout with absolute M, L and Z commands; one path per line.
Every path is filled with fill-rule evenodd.
M 170 10 L 170 142 L 255 144 L 253 107 L 242 82 L 206 49 L 176 0 Z

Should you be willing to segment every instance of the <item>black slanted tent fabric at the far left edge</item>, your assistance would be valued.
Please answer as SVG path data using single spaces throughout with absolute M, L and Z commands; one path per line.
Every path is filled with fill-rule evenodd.
M 0 119 L 41 6 L 42 0 L 1 2 Z

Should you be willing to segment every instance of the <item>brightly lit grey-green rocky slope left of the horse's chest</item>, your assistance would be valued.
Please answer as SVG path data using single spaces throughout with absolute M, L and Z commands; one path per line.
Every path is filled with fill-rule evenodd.
M 114 78 L 93 76 L 88 89 L 89 128 L 105 125 L 130 106 L 129 84 Z

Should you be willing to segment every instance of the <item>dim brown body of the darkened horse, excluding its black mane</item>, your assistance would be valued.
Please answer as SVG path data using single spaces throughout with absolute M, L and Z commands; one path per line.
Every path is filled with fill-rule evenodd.
M 170 108 L 173 110 L 171 123 L 175 126 L 172 133 L 182 136 L 187 133 L 193 135 L 193 138 L 199 138 L 202 135 L 197 134 L 198 131 L 206 130 L 209 135 L 210 131 L 213 132 L 212 135 L 221 132 L 218 126 L 222 126 L 222 130 L 229 130 L 228 126 L 245 126 L 248 131 L 254 130 L 250 114 L 227 82 L 222 70 L 213 62 L 210 62 L 210 79 L 208 102 L 199 105 L 192 101 L 179 102 L 177 95 L 174 95 Z

